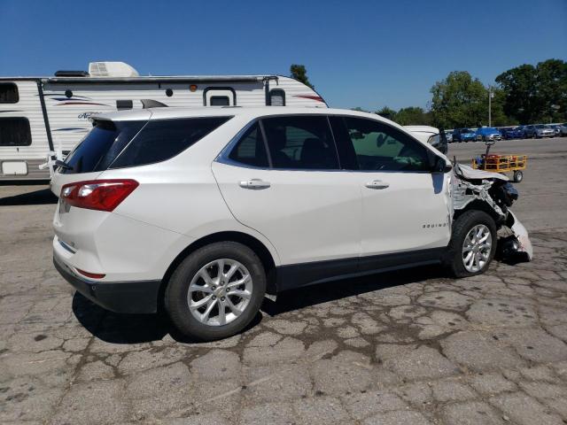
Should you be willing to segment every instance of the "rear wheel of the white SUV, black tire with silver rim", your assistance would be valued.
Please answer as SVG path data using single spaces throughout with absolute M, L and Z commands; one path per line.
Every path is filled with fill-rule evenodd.
M 217 281 L 220 265 L 223 265 L 224 274 L 229 274 L 235 267 L 224 284 Z M 210 284 L 206 283 L 203 273 L 209 276 Z M 245 280 L 245 275 L 250 279 Z M 243 283 L 237 285 L 237 281 Z M 265 293 L 266 272 L 254 251 L 242 243 L 211 243 L 192 252 L 175 269 L 167 284 L 165 307 L 175 328 L 183 336 L 198 341 L 214 341 L 244 329 L 260 310 Z M 206 298 L 209 301 L 203 303 Z M 191 309 L 190 302 L 201 302 L 202 305 Z M 221 308 L 224 314 L 221 314 Z M 242 311 L 234 313 L 239 309 Z M 207 310 L 209 313 L 204 319 Z

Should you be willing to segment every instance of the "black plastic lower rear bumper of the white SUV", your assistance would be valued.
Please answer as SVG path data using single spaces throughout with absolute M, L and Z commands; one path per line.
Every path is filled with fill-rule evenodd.
M 156 313 L 161 281 L 95 282 L 74 274 L 53 256 L 53 265 L 84 297 L 114 313 Z

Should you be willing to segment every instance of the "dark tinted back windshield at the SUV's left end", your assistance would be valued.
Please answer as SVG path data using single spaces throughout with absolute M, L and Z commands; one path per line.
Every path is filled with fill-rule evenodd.
M 147 121 L 95 121 L 95 128 L 67 156 L 64 174 L 103 171 Z

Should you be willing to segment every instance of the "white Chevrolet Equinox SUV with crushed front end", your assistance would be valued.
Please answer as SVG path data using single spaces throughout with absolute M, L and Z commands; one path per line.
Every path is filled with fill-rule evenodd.
M 98 305 L 230 336 L 265 294 L 531 245 L 499 174 L 452 166 L 363 112 L 158 108 L 100 115 L 59 164 L 55 267 Z

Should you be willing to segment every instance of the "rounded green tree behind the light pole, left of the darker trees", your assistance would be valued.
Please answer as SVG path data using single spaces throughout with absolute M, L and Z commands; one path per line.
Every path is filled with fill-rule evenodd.
M 488 91 L 466 71 L 453 71 L 431 87 L 432 123 L 439 128 L 488 124 Z

